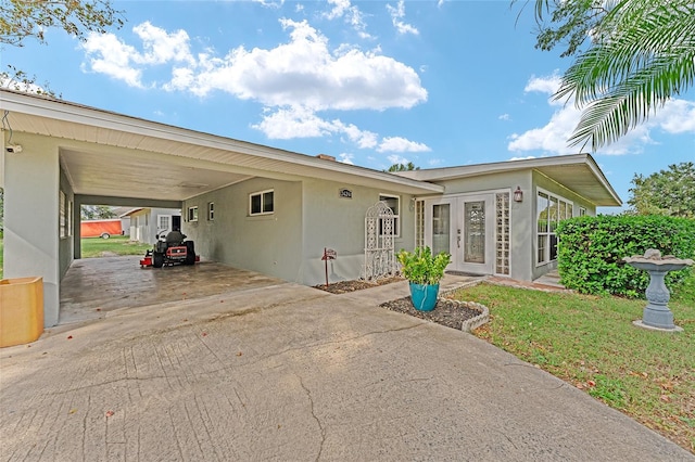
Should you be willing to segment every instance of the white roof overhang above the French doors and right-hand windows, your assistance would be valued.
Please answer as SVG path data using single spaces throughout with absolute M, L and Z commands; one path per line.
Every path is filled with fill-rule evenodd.
M 620 206 L 622 201 L 590 154 L 572 154 L 477 164 L 462 167 L 402 171 L 397 175 L 420 181 L 446 181 L 506 171 L 535 170 L 597 206 Z

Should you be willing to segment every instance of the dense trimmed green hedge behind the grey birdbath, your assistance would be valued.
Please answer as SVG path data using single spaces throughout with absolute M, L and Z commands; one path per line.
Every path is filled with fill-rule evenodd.
M 657 248 L 661 255 L 695 259 L 695 220 L 665 216 L 577 217 L 556 231 L 560 282 L 586 294 L 644 297 L 646 271 L 622 261 Z M 671 271 L 666 283 L 675 288 L 691 269 Z

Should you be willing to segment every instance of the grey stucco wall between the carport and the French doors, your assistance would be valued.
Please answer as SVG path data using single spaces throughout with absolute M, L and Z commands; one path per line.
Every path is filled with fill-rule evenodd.
M 341 198 L 350 189 L 353 198 Z M 275 213 L 249 216 L 249 194 L 274 190 Z M 185 202 L 182 232 L 195 241 L 195 251 L 212 259 L 301 284 L 325 282 L 320 257 L 324 247 L 337 251 L 329 267 L 330 281 L 357 279 L 362 273 L 365 214 L 379 194 L 401 197 L 401 236 L 396 252 L 412 248 L 414 211 L 410 196 L 389 189 L 370 189 L 311 178 L 280 181 L 255 178 Z M 214 220 L 207 206 L 214 203 Z M 188 208 L 198 206 L 197 222 L 187 221 Z

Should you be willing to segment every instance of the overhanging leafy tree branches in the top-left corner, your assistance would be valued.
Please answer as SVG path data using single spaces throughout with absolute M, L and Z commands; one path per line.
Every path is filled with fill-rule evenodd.
M 0 0 L 0 52 L 5 46 L 23 47 L 29 38 L 47 43 L 46 30 L 52 27 L 84 41 L 87 33 L 123 27 L 122 14 L 111 0 Z M 12 65 L 0 72 L 0 87 L 55 97 L 36 82 L 36 76 Z

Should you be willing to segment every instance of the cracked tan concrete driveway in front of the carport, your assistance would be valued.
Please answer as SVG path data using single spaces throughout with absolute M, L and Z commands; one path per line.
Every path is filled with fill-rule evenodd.
M 404 295 L 277 282 L 3 348 L 0 458 L 695 460 L 469 334 L 377 307 Z

